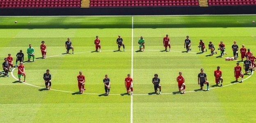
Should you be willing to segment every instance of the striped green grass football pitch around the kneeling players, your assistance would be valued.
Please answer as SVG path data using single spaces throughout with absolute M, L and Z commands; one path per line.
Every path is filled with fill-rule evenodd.
M 225 57 L 233 57 L 233 41 L 256 53 L 253 20 L 256 15 L 0 17 L 1 63 L 11 53 L 15 64 L 19 50 L 27 61 L 29 44 L 37 58 L 24 64 L 26 83 L 16 80 L 17 68 L 9 77 L 0 77 L 0 122 L 256 122 L 256 75 L 245 75 L 244 82 L 235 82 L 237 61 L 225 61 Z M 171 52 L 161 52 L 166 34 Z M 97 35 L 102 52 L 91 52 Z M 122 47 L 115 51 L 118 35 L 123 38 L 125 52 Z M 183 52 L 187 35 L 192 41 L 189 53 Z M 145 39 L 145 52 L 136 52 L 140 36 Z M 74 54 L 65 54 L 68 37 Z M 199 54 L 200 39 L 206 48 L 212 41 L 217 54 L 208 56 L 209 50 Z M 41 41 L 46 42 L 46 59 L 40 58 Z M 219 41 L 226 45 L 224 57 L 218 57 Z M 223 87 L 215 86 L 217 66 L 222 70 Z M 207 74 L 210 91 L 198 90 L 200 68 Z M 51 90 L 43 89 L 46 69 L 52 74 Z M 79 71 L 86 77 L 84 94 L 78 93 Z M 174 93 L 178 91 L 179 71 L 185 77 L 185 94 Z M 133 96 L 123 94 L 128 73 L 134 81 Z M 160 95 L 152 94 L 155 73 L 161 79 Z M 103 95 L 105 74 L 111 80 L 109 96 Z

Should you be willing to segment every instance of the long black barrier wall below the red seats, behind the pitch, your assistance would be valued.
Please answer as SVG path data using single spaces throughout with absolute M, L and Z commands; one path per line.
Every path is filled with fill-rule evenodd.
M 256 6 L 2 8 L 0 16 L 256 14 Z

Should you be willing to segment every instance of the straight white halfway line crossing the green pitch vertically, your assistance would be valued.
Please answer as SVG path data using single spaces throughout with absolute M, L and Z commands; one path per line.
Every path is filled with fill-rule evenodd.
M 131 77 L 133 78 L 133 16 L 132 16 L 132 49 L 131 49 Z M 133 123 L 133 95 L 130 102 L 130 123 Z

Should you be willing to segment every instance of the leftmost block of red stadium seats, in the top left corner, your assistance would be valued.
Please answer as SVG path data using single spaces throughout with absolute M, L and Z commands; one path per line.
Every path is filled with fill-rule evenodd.
M 0 0 L 0 8 L 62 8 L 81 6 L 81 0 Z

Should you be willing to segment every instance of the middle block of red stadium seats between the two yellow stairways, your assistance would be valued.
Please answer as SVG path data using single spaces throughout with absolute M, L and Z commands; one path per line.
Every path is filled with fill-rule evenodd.
M 90 0 L 90 7 L 199 6 L 198 0 Z

